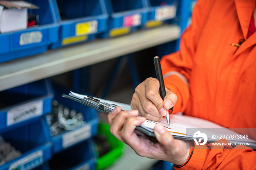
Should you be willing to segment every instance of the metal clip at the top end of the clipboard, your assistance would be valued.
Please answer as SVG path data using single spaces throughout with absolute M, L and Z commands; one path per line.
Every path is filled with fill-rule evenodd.
M 106 111 L 108 113 L 110 113 L 117 107 L 116 104 L 103 103 L 100 100 L 98 100 L 97 98 L 93 98 L 91 96 L 84 97 L 82 99 L 82 101 L 84 101 L 85 103 L 87 103 L 89 105 L 93 105 L 94 107 L 99 108 L 100 110 Z

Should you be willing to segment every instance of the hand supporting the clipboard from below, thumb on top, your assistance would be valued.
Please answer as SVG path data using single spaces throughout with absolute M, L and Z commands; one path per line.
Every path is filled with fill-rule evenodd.
M 183 165 L 188 159 L 190 144 L 184 140 L 174 139 L 160 124 L 154 128 L 158 143 L 138 136 L 134 130 L 145 121 L 145 117 L 137 117 L 138 114 L 137 110 L 121 111 L 120 107 L 115 108 L 108 115 L 111 133 L 128 144 L 139 156 Z

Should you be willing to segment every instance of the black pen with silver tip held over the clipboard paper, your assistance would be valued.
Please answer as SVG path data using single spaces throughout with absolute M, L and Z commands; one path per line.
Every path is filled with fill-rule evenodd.
M 160 88 L 159 88 L 160 96 L 162 99 L 164 99 L 166 95 L 166 91 L 165 91 L 165 84 L 163 82 L 163 73 L 161 69 L 160 59 L 158 56 L 154 57 L 154 64 L 155 64 L 155 72 L 157 73 L 157 80 L 159 81 L 159 84 L 160 84 Z M 167 121 L 168 126 L 170 126 L 169 110 L 167 110 L 165 119 Z

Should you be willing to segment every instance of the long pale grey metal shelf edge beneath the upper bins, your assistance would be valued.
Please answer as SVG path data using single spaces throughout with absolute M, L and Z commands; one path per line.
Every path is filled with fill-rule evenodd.
M 0 63 L 0 91 L 157 46 L 179 36 L 180 27 L 166 25 Z

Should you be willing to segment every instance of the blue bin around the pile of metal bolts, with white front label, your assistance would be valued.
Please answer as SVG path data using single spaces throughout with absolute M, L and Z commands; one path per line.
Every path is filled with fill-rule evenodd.
M 53 142 L 53 154 L 72 147 L 98 134 L 98 117 L 95 109 L 77 101 L 61 97 L 62 94 L 69 93 L 69 90 L 62 88 L 61 86 L 54 86 L 54 93 L 55 99 L 62 105 L 69 109 L 74 109 L 76 112 L 81 112 L 84 121 L 86 121 L 86 125 L 76 130 L 63 131 L 56 136 L 50 136 Z

